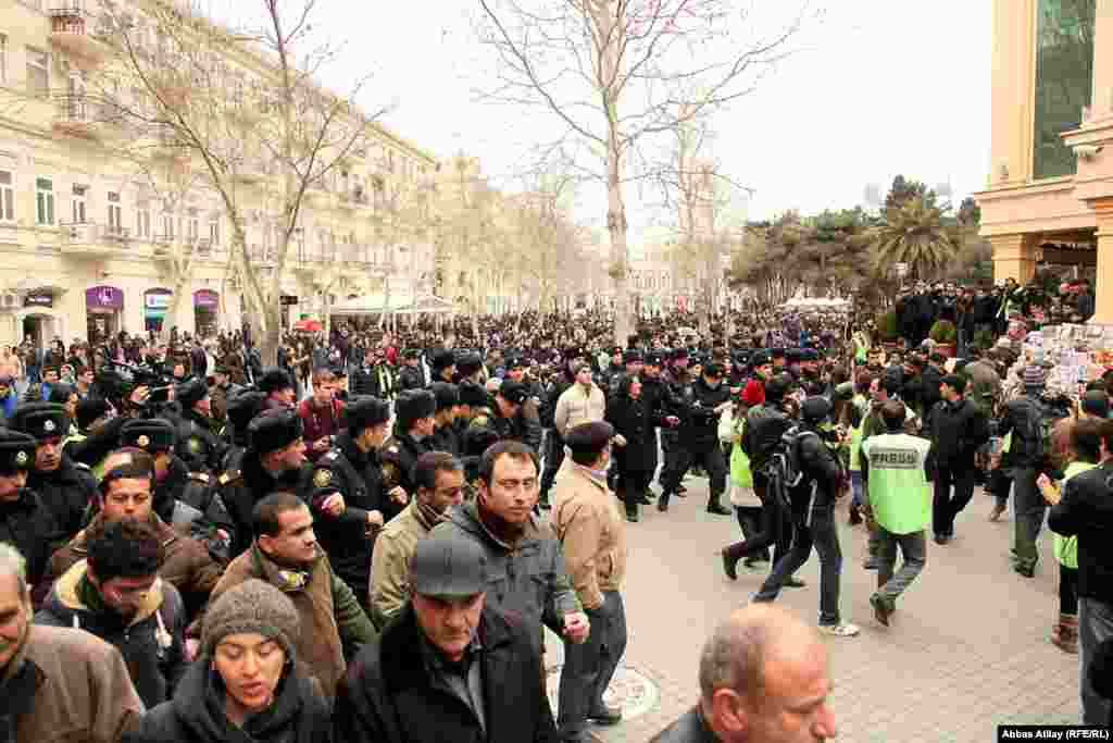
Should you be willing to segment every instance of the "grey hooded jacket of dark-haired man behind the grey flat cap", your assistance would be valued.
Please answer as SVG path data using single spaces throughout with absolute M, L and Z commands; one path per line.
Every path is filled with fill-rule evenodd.
M 564 629 L 564 615 L 580 610 L 560 542 L 536 516 L 530 515 L 521 538 L 509 545 L 480 520 L 475 502 L 464 502 L 450 509 L 445 522 L 437 525 L 433 534 L 462 536 L 483 549 L 487 604 L 523 617 L 526 626 L 533 627 L 539 652 L 542 623 L 559 635 Z

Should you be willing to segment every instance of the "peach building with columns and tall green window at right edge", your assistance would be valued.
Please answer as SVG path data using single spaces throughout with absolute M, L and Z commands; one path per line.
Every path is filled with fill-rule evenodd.
M 991 172 L 975 194 L 994 276 L 1096 266 L 1113 323 L 1113 3 L 994 0 Z

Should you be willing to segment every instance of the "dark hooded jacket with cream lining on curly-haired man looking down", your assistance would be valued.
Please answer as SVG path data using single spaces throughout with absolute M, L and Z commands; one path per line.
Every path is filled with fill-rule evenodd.
M 186 613 L 178 589 L 161 578 L 131 619 L 108 607 L 93 609 L 79 595 L 88 564 L 77 563 L 51 588 L 36 624 L 85 629 L 120 651 L 139 697 L 148 707 L 170 698 L 186 672 Z

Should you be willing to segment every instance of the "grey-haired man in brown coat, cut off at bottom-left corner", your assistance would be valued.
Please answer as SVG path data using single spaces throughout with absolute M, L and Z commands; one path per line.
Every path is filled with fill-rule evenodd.
M 120 652 L 81 629 L 31 625 L 22 555 L 0 544 L 0 740 L 116 743 L 135 730 L 144 704 Z

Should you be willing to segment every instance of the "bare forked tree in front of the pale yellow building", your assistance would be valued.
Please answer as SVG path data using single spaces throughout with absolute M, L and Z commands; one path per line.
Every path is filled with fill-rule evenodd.
M 106 10 L 101 33 L 112 60 L 78 96 L 127 130 L 134 157 L 170 156 L 215 194 L 230 223 L 233 277 L 269 361 L 305 206 L 333 206 L 334 172 L 373 136 L 384 110 L 352 104 L 366 78 L 343 97 L 321 85 L 337 48 L 311 39 L 316 0 L 294 9 L 254 1 L 263 20 L 247 29 L 218 25 L 187 2 L 147 3 L 142 19 Z M 256 251 L 248 233 L 258 229 Z

